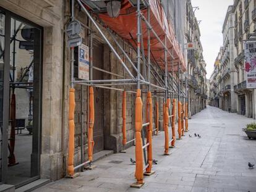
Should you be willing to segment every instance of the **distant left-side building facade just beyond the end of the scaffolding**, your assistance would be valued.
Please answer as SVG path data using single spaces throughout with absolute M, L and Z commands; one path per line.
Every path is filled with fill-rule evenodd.
M 190 0 L 187 1 L 186 44 L 187 44 L 187 93 L 189 117 L 206 107 L 206 63 L 200 41 L 200 28 Z

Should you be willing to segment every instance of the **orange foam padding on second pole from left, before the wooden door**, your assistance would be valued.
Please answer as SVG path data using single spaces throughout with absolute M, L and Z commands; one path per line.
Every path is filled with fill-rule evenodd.
M 93 125 L 94 125 L 94 93 L 93 87 L 89 87 L 89 109 L 90 109 L 90 118 L 89 118 L 89 127 L 88 127 L 88 160 L 93 160 Z

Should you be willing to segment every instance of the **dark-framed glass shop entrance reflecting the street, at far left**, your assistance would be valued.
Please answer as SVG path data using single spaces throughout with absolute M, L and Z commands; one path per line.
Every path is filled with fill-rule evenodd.
M 40 176 L 40 26 L 0 7 L 0 182 Z

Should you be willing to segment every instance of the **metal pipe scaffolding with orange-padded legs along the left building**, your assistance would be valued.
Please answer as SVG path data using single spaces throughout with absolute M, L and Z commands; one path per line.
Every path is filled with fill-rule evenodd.
M 153 129 L 153 112 L 152 112 L 152 97 L 163 99 L 164 103 L 164 133 L 165 133 L 165 144 L 164 144 L 164 154 L 168 155 L 168 148 L 174 147 L 175 143 L 175 105 L 176 99 L 178 100 L 178 106 L 181 106 L 183 103 L 182 109 L 179 108 L 179 120 L 182 118 L 180 116 L 187 115 L 187 89 L 184 86 L 184 81 L 182 78 L 182 67 L 181 60 L 177 59 L 174 56 L 174 47 L 168 48 L 168 37 L 164 36 L 164 41 L 161 40 L 160 36 L 158 36 L 156 30 L 150 23 L 150 0 L 136 0 L 132 1 L 133 4 L 137 7 L 137 36 L 136 38 L 132 38 L 134 44 L 136 44 L 136 48 L 128 42 L 130 48 L 137 52 L 136 61 L 132 61 L 132 58 L 126 53 L 126 51 L 122 48 L 121 44 L 119 44 L 117 37 L 120 36 L 116 33 L 116 31 L 111 30 L 111 27 L 106 25 L 98 14 L 93 14 L 93 10 L 89 11 L 88 7 L 93 4 L 93 1 L 83 1 L 83 0 L 71 0 L 72 1 L 72 20 L 74 20 L 74 4 L 75 1 L 79 4 L 80 9 L 87 15 L 90 22 L 86 28 L 90 31 L 89 36 L 89 52 L 90 52 L 90 64 L 89 64 L 89 80 L 79 80 L 74 78 L 74 48 L 71 51 L 71 88 L 70 88 L 70 109 L 69 109 L 69 161 L 68 161 L 68 175 L 74 175 L 74 170 L 83 167 L 86 164 L 90 164 L 93 161 L 93 123 L 94 119 L 94 104 L 93 104 L 93 87 L 116 90 L 121 91 L 123 94 L 123 102 L 122 102 L 122 118 L 123 118 L 123 141 L 122 144 L 125 146 L 131 142 L 135 141 L 135 161 L 136 161 L 136 170 L 135 177 L 137 182 L 134 184 L 135 186 L 143 185 L 143 174 L 150 175 L 153 173 L 152 168 L 152 142 L 151 135 L 153 131 L 158 133 L 158 102 L 156 102 L 156 121 L 157 126 Z M 88 3 L 88 4 L 87 4 Z M 147 10 L 147 17 L 142 14 L 142 9 Z M 97 13 L 97 12 L 95 12 Z M 147 26 L 147 48 L 144 48 L 144 40 L 142 34 L 142 23 Z M 135 71 L 135 74 L 130 71 L 127 64 L 123 61 L 122 56 L 118 53 L 118 51 L 114 48 L 114 45 L 111 41 L 108 40 L 108 37 L 101 30 L 101 26 L 106 28 L 108 31 L 108 35 L 111 36 L 111 39 L 115 43 L 115 46 L 122 52 L 122 56 L 126 58 L 129 63 L 129 67 Z M 124 71 L 129 78 L 124 78 L 124 76 L 109 72 L 104 69 L 100 69 L 98 67 L 93 66 L 93 27 L 100 33 L 101 37 L 105 40 L 106 44 L 108 44 L 109 48 L 113 52 L 114 56 L 118 59 L 119 63 L 121 63 L 122 67 L 124 67 Z M 162 51 L 164 53 L 164 61 L 159 61 L 159 58 L 155 58 L 151 51 L 151 35 L 155 37 L 155 40 L 162 46 Z M 144 38 L 145 39 L 145 38 Z M 146 56 L 147 52 L 147 56 Z M 171 61 L 168 61 L 168 57 L 171 58 Z M 160 58 L 161 59 L 161 58 Z M 164 70 L 163 70 L 164 64 Z M 177 70 L 174 68 L 177 67 Z M 143 69 L 143 72 L 142 72 Z M 105 72 L 111 74 L 118 79 L 104 79 L 104 80 L 95 80 L 93 78 L 93 70 L 100 70 L 101 72 Z M 175 78 L 177 77 L 177 80 Z M 153 83 L 151 81 L 153 78 L 157 83 Z M 186 78 L 185 78 L 186 80 Z M 74 85 L 86 85 L 90 90 L 89 97 L 89 112 L 90 118 L 88 121 L 88 161 L 82 162 L 80 165 L 74 167 Z M 185 83 L 186 84 L 186 83 Z M 132 90 L 132 88 L 124 89 L 122 86 L 124 85 L 136 85 L 136 89 Z M 120 87 L 121 86 L 121 87 Z M 144 86 L 145 89 L 142 89 Z M 132 86 L 130 86 L 132 87 Z M 185 90 L 185 91 L 184 91 Z M 135 138 L 133 140 L 127 141 L 126 139 L 126 93 L 135 94 Z M 147 93 L 147 107 L 146 107 L 146 122 L 143 122 L 142 118 L 142 93 Z M 171 106 L 174 105 L 171 109 Z M 183 115 L 181 115 L 183 113 Z M 187 117 L 185 117 L 187 118 Z M 183 118 L 184 119 L 184 118 Z M 171 140 L 169 140 L 168 127 L 171 125 L 173 128 Z M 147 142 L 145 143 L 145 133 L 143 131 L 143 127 L 147 127 Z M 179 131 L 180 130 L 179 125 Z M 184 130 L 184 128 L 183 128 Z M 186 130 L 187 130 L 187 119 L 186 119 Z M 182 133 L 183 134 L 183 133 Z M 157 135 L 157 134 L 156 134 Z M 180 133 L 179 133 L 180 135 Z M 180 137 L 180 136 L 179 136 Z M 171 143 L 171 146 L 170 146 Z M 71 146 L 71 147 L 70 147 Z M 147 148 L 147 154 L 146 154 Z M 143 167 L 143 159 L 145 163 L 145 167 Z M 132 186 L 134 186 L 132 185 Z

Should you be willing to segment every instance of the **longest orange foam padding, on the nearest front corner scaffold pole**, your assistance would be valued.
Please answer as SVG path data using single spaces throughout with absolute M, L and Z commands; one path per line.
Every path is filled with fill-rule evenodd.
M 135 178 L 138 184 L 143 183 L 143 152 L 142 152 L 142 98 L 141 90 L 137 90 L 135 100 Z

